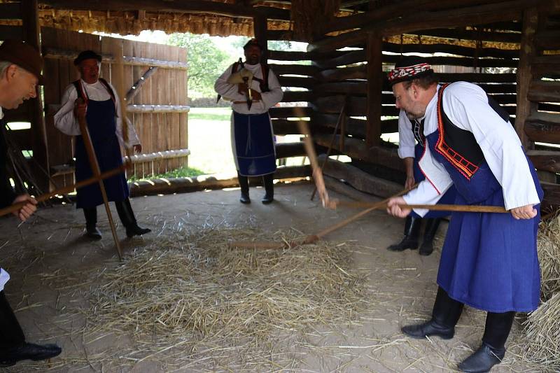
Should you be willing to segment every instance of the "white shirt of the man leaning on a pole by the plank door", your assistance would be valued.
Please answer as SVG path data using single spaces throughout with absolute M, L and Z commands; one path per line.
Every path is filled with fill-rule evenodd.
M 93 101 L 106 101 L 111 99 L 111 94 L 107 92 L 107 88 L 99 80 L 93 84 L 87 84 L 85 81 L 80 80 L 87 97 Z M 128 125 L 128 143 L 125 144 L 123 139 L 123 118 L 120 118 L 120 101 L 118 98 L 117 91 L 115 88 L 109 84 L 113 93 L 115 94 L 115 104 L 116 104 L 116 135 L 121 146 L 124 148 L 132 148 L 134 145 L 139 145 L 140 140 L 138 135 L 134 130 L 134 126 Z M 73 84 L 66 87 L 64 94 L 62 94 L 62 106 L 59 111 L 55 114 L 55 127 L 60 130 L 63 134 L 69 136 L 80 135 L 80 125 L 78 124 L 78 118 L 74 115 L 74 101 L 78 98 L 78 92 L 76 92 L 76 87 Z

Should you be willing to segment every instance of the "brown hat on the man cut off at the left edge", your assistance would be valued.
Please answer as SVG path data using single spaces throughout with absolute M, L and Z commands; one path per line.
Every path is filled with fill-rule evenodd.
M 29 71 L 43 84 L 43 57 L 33 46 L 20 40 L 6 40 L 0 45 L 0 61 L 11 62 Z

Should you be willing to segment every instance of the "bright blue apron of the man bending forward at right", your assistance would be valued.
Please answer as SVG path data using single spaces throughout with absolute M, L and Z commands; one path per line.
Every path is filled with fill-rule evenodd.
M 435 149 L 439 130 L 427 137 L 430 151 L 453 181 L 456 204 L 504 206 L 503 190 L 486 161 L 468 180 Z M 539 199 L 542 188 L 527 159 Z M 515 220 L 511 213 L 451 213 L 437 283 L 454 300 L 490 312 L 528 312 L 538 307 L 540 268 L 538 214 Z

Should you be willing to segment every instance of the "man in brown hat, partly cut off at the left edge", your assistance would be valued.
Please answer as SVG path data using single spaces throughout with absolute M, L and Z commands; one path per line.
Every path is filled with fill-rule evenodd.
M 31 45 L 15 40 L 0 45 L 0 119 L 3 108 L 14 109 L 37 97 L 42 67 L 43 58 Z M 36 211 L 37 202 L 29 195 L 15 194 L 6 173 L 6 143 L 0 141 L 0 207 L 19 202 L 25 204 L 14 215 L 25 221 Z M 59 355 L 62 349 L 55 344 L 25 342 L 25 334 L 4 295 L 9 279 L 8 272 L 0 268 L 0 367 L 9 367 L 19 360 L 45 360 Z

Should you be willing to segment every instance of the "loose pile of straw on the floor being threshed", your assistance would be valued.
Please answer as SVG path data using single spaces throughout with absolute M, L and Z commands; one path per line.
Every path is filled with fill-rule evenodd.
M 349 269 L 349 245 L 253 250 L 228 241 L 301 238 L 210 229 L 158 239 L 94 276 L 85 337 L 132 334 L 136 349 L 119 351 L 120 364 L 165 358 L 200 370 L 293 367 L 301 356 L 289 351 L 290 341 L 352 321 L 370 298 L 364 276 Z

